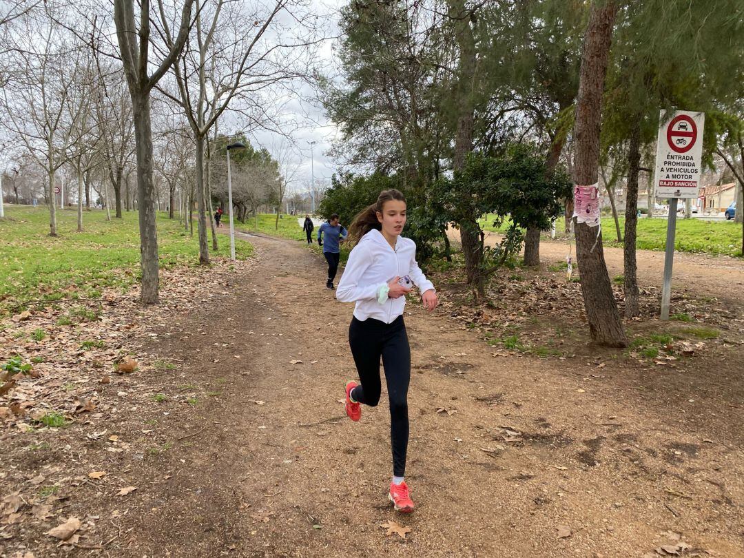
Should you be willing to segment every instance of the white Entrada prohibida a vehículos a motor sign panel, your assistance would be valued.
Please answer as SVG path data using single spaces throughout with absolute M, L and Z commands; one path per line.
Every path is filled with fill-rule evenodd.
M 662 110 L 658 123 L 654 190 L 657 198 L 697 198 L 705 113 Z

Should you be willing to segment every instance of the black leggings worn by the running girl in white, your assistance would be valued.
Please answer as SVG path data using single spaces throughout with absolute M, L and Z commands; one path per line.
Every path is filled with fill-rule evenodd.
M 352 391 L 355 401 L 374 407 L 379 403 L 382 386 L 379 359 L 385 367 L 385 382 L 390 398 L 390 439 L 393 446 L 393 475 L 405 474 L 408 449 L 408 382 L 411 380 L 411 348 L 405 333 L 403 316 L 392 324 L 374 318 L 351 320 L 349 345 L 362 385 Z

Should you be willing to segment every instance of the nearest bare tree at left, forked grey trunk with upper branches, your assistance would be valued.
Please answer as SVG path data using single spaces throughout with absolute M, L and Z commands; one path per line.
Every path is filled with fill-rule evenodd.
M 151 23 L 156 20 L 150 13 L 150 0 L 140 1 L 139 17 L 135 18 L 134 0 L 114 0 L 114 23 L 119 43 L 124 74 L 132 97 L 132 115 L 135 126 L 137 152 L 137 199 L 139 210 L 140 252 L 142 267 L 143 304 L 158 302 L 158 231 L 155 225 L 155 187 L 153 185 L 153 131 L 150 126 L 150 92 L 165 72 L 176 62 L 192 25 L 193 0 L 184 0 L 180 10 L 179 32 L 164 49 L 160 63 L 153 63 L 149 74 Z M 158 0 L 161 25 L 167 28 L 165 7 Z

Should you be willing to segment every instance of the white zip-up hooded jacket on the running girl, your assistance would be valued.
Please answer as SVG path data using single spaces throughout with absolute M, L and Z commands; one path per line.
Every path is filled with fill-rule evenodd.
M 403 314 L 405 296 L 388 298 L 383 304 L 379 304 L 377 296 L 381 286 L 405 275 L 422 293 L 434 289 L 416 262 L 416 243 L 398 237 L 395 248 L 392 248 L 382 233 L 373 228 L 349 254 L 344 275 L 336 289 L 336 298 L 341 302 L 356 302 L 354 316 L 360 321 L 375 318 L 391 324 Z

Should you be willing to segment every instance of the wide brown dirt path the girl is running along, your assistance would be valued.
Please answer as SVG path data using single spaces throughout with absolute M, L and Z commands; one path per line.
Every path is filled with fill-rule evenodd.
M 173 382 L 219 397 L 202 422 L 169 427 L 190 437 L 145 467 L 148 496 L 133 495 L 113 555 L 641 557 L 679 533 L 687 556 L 744 556 L 742 390 L 718 389 L 741 386 L 741 368 L 705 393 L 665 391 L 653 369 L 491 356 L 444 311 L 409 305 L 417 511 L 401 518 L 386 498 L 387 404 L 351 423 L 338 401 L 356 377 L 352 307 L 301 243 L 250 240 L 251 275 L 145 345 L 185 363 Z M 408 540 L 385 536 L 391 519 Z

